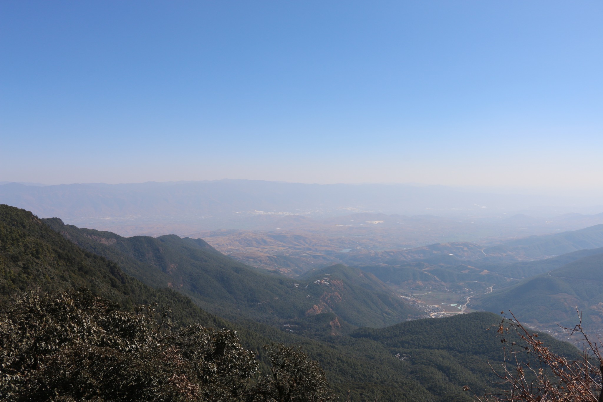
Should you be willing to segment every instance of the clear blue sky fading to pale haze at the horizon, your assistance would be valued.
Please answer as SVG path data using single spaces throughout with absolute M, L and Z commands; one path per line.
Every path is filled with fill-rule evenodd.
M 603 186 L 603 2 L 2 1 L 0 181 Z

